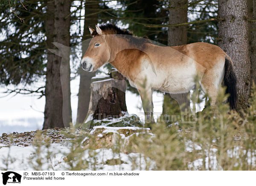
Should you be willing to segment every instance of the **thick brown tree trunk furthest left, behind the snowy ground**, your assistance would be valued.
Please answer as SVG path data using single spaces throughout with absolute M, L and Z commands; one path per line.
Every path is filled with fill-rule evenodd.
M 49 2 L 47 5 L 47 11 L 50 13 L 46 20 L 47 46 L 52 47 L 50 45 L 52 39 L 54 42 L 70 46 L 70 16 L 67 17 L 67 15 L 70 13 L 71 1 L 55 0 L 54 4 Z M 65 56 L 62 58 L 53 54 L 48 54 L 47 56 L 49 61 L 47 61 L 46 105 L 43 129 L 63 128 L 70 126 L 70 122 L 72 122 L 70 57 L 69 51 L 64 53 Z

